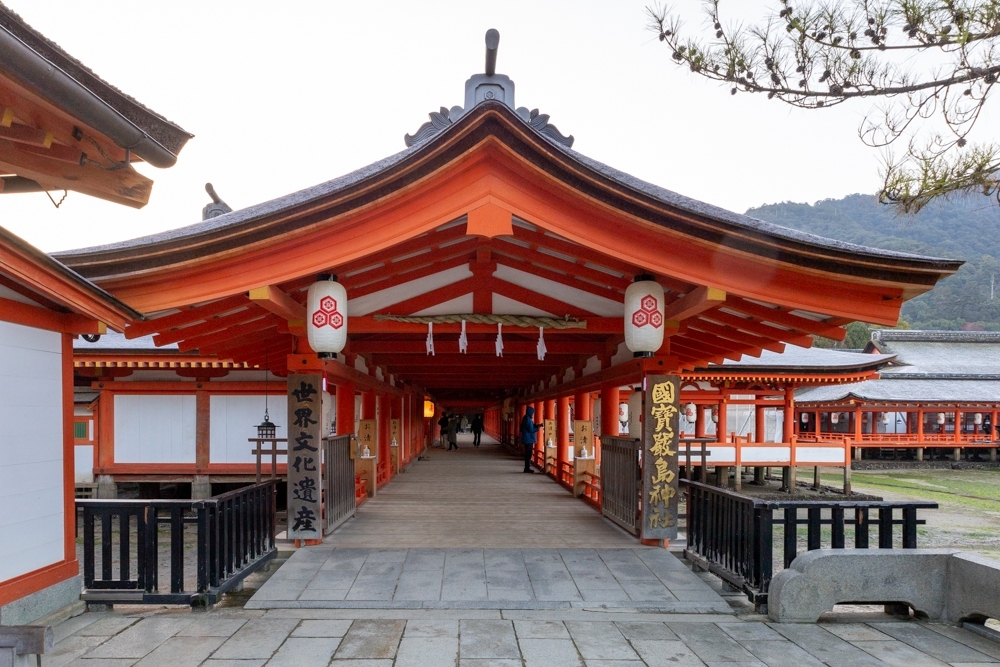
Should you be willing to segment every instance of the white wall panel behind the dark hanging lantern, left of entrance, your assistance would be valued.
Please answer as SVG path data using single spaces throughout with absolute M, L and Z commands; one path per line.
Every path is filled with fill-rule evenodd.
M 270 394 L 267 397 L 267 411 L 271 423 L 277 425 L 275 434 L 279 438 L 288 433 L 288 396 Z M 251 454 L 254 444 L 249 438 L 257 437 L 257 424 L 264 421 L 263 395 L 213 394 L 209 397 L 209 447 L 210 463 L 255 463 L 257 457 Z M 284 445 L 279 443 L 280 448 Z M 270 457 L 265 457 L 268 464 Z M 278 457 L 285 462 L 284 456 Z

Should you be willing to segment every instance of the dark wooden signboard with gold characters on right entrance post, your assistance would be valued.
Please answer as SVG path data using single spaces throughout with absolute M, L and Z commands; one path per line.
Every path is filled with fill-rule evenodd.
M 649 375 L 643 405 L 642 530 L 644 540 L 677 538 L 677 446 L 680 378 Z

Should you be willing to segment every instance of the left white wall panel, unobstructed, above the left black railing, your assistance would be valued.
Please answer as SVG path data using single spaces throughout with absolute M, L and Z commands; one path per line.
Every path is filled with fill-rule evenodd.
M 194 463 L 194 394 L 115 396 L 115 463 Z

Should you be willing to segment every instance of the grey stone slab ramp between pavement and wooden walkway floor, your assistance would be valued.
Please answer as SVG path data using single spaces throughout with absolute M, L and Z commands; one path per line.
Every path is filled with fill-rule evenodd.
M 299 549 L 247 609 L 731 613 L 666 549 Z

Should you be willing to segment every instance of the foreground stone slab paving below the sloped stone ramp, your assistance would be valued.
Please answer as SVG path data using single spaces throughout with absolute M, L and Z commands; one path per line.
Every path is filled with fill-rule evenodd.
M 973 667 L 1000 644 L 883 614 L 778 625 L 759 616 L 583 610 L 87 613 L 46 667 Z

